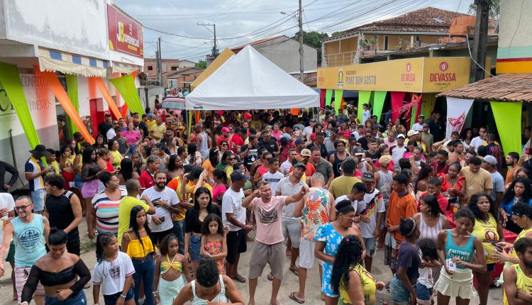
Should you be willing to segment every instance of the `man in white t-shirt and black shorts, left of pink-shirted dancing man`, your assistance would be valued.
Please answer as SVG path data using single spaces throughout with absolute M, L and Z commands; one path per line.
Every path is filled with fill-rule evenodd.
M 238 260 L 240 253 L 245 253 L 248 246 L 245 243 L 245 233 L 253 230 L 253 227 L 245 223 L 245 209 L 242 207 L 244 200 L 245 181 L 249 176 L 239 170 L 231 172 L 231 187 L 223 193 L 222 199 L 222 223 L 223 227 L 229 228 L 227 233 L 227 257 L 226 275 L 238 282 L 245 282 L 245 277 L 238 274 Z

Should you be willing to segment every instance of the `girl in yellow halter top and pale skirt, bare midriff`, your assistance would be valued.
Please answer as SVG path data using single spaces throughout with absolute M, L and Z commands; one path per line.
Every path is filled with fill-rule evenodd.
M 178 253 L 179 240 L 174 234 L 167 235 L 162 240 L 159 250 L 161 255 L 155 261 L 153 296 L 155 303 L 171 305 L 186 284 L 183 275 L 187 278 L 187 282 L 192 281 L 189 262 L 184 255 Z

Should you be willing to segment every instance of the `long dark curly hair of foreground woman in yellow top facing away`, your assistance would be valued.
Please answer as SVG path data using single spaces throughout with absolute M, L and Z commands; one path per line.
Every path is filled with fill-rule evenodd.
M 340 282 L 343 279 L 344 283 L 349 282 L 349 267 L 357 265 L 362 260 L 362 243 L 357 235 L 347 235 L 340 245 L 338 245 L 338 252 L 333 265 L 333 274 L 331 276 L 331 284 L 333 291 L 338 294 L 340 291 Z

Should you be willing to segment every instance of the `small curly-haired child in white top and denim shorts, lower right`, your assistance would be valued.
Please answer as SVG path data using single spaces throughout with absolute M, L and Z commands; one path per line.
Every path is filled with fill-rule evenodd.
M 440 268 L 438 262 L 438 252 L 436 242 L 430 238 L 418 240 L 418 247 L 421 251 L 421 265 L 419 265 L 419 277 L 416 284 L 416 299 L 420 305 L 433 304 L 433 277 L 432 268 Z

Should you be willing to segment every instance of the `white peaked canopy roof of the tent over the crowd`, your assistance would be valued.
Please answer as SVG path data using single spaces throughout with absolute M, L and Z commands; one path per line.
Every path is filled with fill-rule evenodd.
M 290 109 L 319 106 L 319 94 L 250 45 L 185 98 L 187 110 Z

